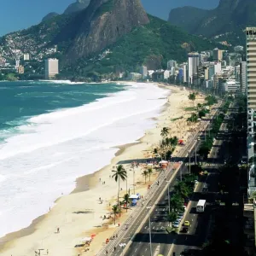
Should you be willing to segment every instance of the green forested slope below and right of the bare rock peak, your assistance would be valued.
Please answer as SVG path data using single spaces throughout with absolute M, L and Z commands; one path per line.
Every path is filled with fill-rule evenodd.
M 216 44 L 181 31 L 165 20 L 148 15 L 150 23 L 138 26 L 110 46 L 111 53 L 102 60 L 92 56 L 90 60 L 80 59 L 77 67 L 69 67 L 63 75 L 77 73 L 80 76 L 104 75 L 108 73 L 137 72 L 141 65 L 148 69 L 166 68 L 167 61 L 187 60 L 187 53 L 193 50 L 212 49 Z M 97 55 L 98 56 L 98 55 Z

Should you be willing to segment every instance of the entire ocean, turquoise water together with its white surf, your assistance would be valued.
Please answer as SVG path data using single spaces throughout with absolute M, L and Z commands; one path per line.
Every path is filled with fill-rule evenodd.
M 0 236 L 20 230 L 154 127 L 153 84 L 0 82 Z

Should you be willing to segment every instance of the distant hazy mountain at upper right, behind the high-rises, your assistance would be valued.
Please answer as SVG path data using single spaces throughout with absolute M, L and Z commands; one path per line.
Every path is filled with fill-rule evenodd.
M 256 26 L 255 0 L 220 0 L 218 7 L 202 10 L 185 7 L 172 9 L 169 22 L 181 26 L 189 33 L 228 40 L 231 44 L 244 44 L 243 30 Z

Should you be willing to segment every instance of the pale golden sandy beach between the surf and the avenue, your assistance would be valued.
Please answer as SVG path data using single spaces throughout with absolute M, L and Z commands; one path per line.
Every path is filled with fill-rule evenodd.
M 133 193 L 131 162 L 134 160 L 141 162 L 152 155 L 152 151 L 160 142 L 161 129 L 168 127 L 170 136 L 177 136 L 186 142 L 187 137 L 189 137 L 189 130 L 196 126 L 187 125 L 186 121 L 191 112 L 186 111 L 185 108 L 193 107 L 193 102 L 189 101 L 188 98 L 189 91 L 182 90 L 182 87 L 177 86 L 164 84 L 159 84 L 159 86 L 170 90 L 170 95 L 166 99 L 166 105 L 160 116 L 152 117 L 155 120 L 154 129 L 145 131 L 144 137 L 137 143 L 119 146 L 119 152 L 110 165 L 94 174 L 79 177 L 76 189 L 70 195 L 60 197 L 56 201 L 55 207 L 49 209 L 49 213 L 34 220 L 26 229 L 0 238 L 2 256 L 34 256 L 38 249 L 42 249 L 41 255 L 96 255 L 106 239 L 119 229 L 119 224 L 122 224 L 132 212 L 132 208 L 128 212 L 124 209 L 115 225 L 113 225 L 111 218 L 103 219 L 104 215 L 106 217 L 110 215 L 111 208 L 117 200 L 118 185 L 111 177 L 113 168 L 120 163 L 123 164 L 124 161 L 128 176 L 127 187 Z M 197 103 L 201 102 L 204 102 L 203 98 L 197 96 L 194 104 L 196 106 Z M 177 151 L 180 148 L 177 147 Z M 149 182 L 147 177 L 145 183 L 142 175 L 144 168 L 145 166 L 140 165 L 134 169 L 135 191 L 140 195 L 146 195 L 148 184 L 152 183 L 158 175 L 158 172 L 154 171 L 151 181 Z M 121 182 L 120 188 L 121 198 L 126 193 L 126 182 Z M 57 232 L 58 229 L 59 232 Z M 84 237 L 91 235 L 95 236 L 90 243 L 89 251 L 84 252 L 84 247 L 75 247 L 81 244 Z

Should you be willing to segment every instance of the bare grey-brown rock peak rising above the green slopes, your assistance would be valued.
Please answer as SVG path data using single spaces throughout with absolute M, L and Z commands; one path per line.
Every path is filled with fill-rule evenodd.
M 69 61 L 105 49 L 134 27 L 149 22 L 140 0 L 91 0 L 80 15 L 84 19 L 67 52 Z

